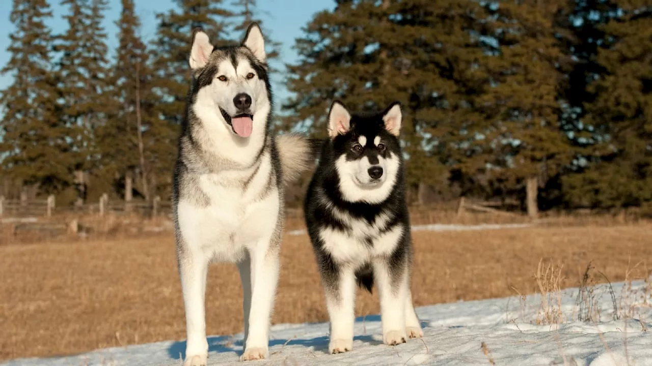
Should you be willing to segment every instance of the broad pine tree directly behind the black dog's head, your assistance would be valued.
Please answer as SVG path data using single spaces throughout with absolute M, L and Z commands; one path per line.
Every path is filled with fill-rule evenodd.
M 299 64 L 288 65 L 286 128 L 325 136 L 333 99 L 353 110 L 404 106 L 402 139 L 411 185 L 446 183 L 454 162 L 447 126 L 472 118 L 468 107 L 482 73 L 472 36 L 484 10 L 475 1 L 338 1 L 297 39 Z

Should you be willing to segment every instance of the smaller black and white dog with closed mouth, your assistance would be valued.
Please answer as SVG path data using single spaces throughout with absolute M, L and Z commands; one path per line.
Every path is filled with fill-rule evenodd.
M 356 284 L 378 287 L 383 341 L 422 337 L 410 292 L 412 247 L 398 141 L 401 106 L 351 115 L 333 102 L 308 193 L 306 226 L 331 320 L 329 352 L 353 348 Z

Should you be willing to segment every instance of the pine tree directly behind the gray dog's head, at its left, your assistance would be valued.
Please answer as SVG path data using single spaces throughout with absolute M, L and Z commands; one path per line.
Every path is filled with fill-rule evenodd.
M 158 29 L 149 53 L 151 79 L 146 86 L 153 94 L 147 98 L 151 108 L 147 115 L 143 114 L 143 119 L 152 118 L 143 132 L 146 159 L 153 162 L 149 165 L 154 169 L 151 184 L 164 197 L 170 194 L 170 171 L 177 154 L 175 144 L 170 141 L 176 141 L 188 92 L 192 29 L 201 27 L 216 46 L 224 45 L 229 43 L 227 20 L 232 16 L 222 6 L 222 0 L 175 0 L 174 3 L 176 8 L 156 14 Z

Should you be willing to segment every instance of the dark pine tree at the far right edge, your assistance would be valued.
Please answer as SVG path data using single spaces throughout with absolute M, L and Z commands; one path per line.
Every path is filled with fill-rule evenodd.
M 652 208 L 652 7 L 610 1 L 595 61 L 603 72 L 587 87 L 586 123 L 596 143 L 578 173 L 564 180 L 572 204 Z

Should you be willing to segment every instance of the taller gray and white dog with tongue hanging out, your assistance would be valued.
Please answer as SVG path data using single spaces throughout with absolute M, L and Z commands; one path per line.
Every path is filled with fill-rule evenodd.
M 239 46 L 192 33 L 192 81 L 173 173 L 177 260 L 186 313 L 184 365 L 207 362 L 204 296 L 211 262 L 235 262 L 244 300 L 242 360 L 269 357 L 284 229 L 284 184 L 314 162 L 301 135 L 271 134 L 272 94 L 256 23 Z

